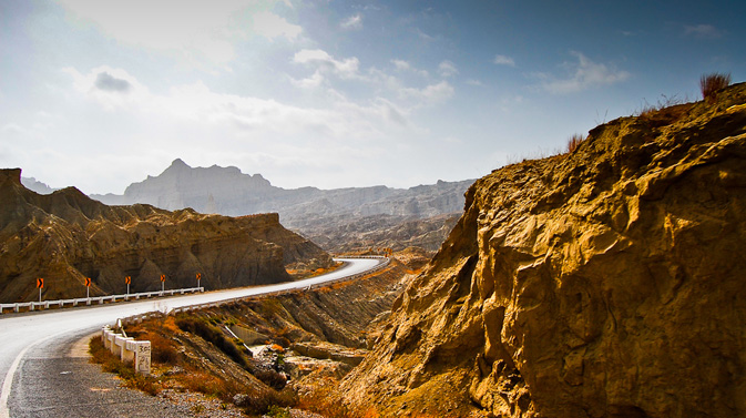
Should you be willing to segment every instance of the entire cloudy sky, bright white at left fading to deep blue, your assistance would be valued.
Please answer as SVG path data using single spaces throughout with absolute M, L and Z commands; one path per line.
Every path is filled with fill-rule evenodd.
M 0 0 L 0 167 L 123 193 L 172 161 L 273 185 L 489 174 L 746 80 L 738 1 Z

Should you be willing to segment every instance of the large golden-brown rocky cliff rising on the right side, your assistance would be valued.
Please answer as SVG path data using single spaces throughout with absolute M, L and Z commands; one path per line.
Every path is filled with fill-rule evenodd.
M 479 180 L 347 401 L 385 416 L 746 416 L 745 103 L 739 84 L 619 119 Z

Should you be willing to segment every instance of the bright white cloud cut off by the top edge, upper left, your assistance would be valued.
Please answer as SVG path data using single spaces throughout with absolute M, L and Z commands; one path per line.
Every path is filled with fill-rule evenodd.
M 221 0 L 59 0 L 73 21 L 94 23 L 103 33 L 135 47 L 173 53 L 201 64 L 226 67 L 235 44 L 249 34 L 296 39 L 302 28 L 266 11 L 272 1 Z M 290 4 L 292 6 L 292 4 Z M 253 26 L 246 19 L 252 17 Z

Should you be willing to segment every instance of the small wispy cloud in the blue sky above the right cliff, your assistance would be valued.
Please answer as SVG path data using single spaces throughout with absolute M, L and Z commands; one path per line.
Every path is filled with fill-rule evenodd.
M 593 62 L 580 52 L 572 51 L 576 63 L 564 63 L 568 77 L 555 78 L 548 73 L 535 73 L 542 80 L 541 88 L 554 94 L 575 93 L 590 88 L 614 84 L 627 80 L 630 73 L 603 63 Z

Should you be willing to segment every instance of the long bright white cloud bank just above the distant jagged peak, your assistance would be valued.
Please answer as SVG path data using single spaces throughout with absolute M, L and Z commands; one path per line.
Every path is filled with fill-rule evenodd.
M 335 139 L 367 137 L 380 134 L 385 126 L 406 125 L 407 111 L 384 99 L 374 100 L 368 105 L 347 101 L 343 95 L 331 96 L 326 108 L 304 108 L 275 100 L 216 93 L 204 83 L 178 85 L 166 94 L 152 93 L 132 75 L 121 69 L 100 67 L 82 74 L 74 69 L 65 69 L 73 78 L 74 90 L 104 110 L 116 110 L 116 115 L 130 113 L 139 118 L 154 119 L 159 123 L 180 126 L 198 125 L 195 131 L 213 131 L 219 135 L 227 130 L 229 135 L 252 132 L 253 137 L 273 139 L 279 135 L 307 135 L 314 132 L 320 136 Z M 100 74 L 111 74 L 117 80 L 126 80 L 132 85 L 127 94 L 119 91 L 101 90 L 96 86 Z M 320 81 L 317 81 L 320 80 Z M 306 83 L 319 83 L 321 75 L 316 72 Z M 426 91 L 423 95 L 435 96 Z M 12 130 L 12 126 L 8 128 Z M 157 129 L 154 128 L 155 131 Z M 228 135 L 228 136 L 229 136 Z

